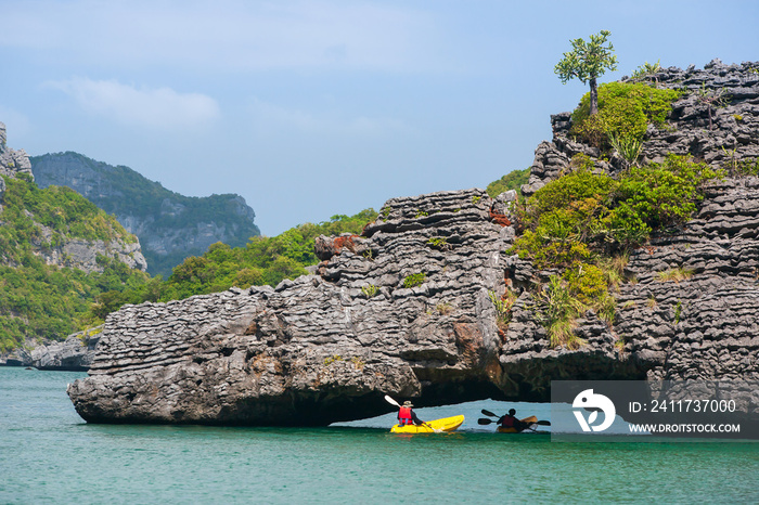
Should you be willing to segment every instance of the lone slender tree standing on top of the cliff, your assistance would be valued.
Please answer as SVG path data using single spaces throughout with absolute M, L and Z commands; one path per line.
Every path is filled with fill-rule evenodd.
M 613 54 L 612 42 L 604 46 L 609 35 L 610 31 L 601 30 L 597 35 L 590 36 L 590 42 L 582 39 L 570 40 L 573 50 L 564 53 L 564 59 L 553 69 L 565 85 L 574 78 L 580 79 L 583 85 L 590 83 L 591 116 L 599 112 L 599 89 L 595 80 L 607 69 L 617 69 L 617 56 Z

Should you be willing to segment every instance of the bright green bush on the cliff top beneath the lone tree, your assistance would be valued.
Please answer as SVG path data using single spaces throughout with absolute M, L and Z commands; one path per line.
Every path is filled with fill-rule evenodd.
M 609 82 L 599 87 L 599 114 L 590 114 L 586 93 L 573 113 L 570 133 L 596 147 L 606 148 L 610 138 L 641 141 L 648 124 L 661 127 L 680 93 L 643 82 Z

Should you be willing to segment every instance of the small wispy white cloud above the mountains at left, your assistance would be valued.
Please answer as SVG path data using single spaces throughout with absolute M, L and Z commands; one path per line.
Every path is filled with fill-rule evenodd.
M 219 106 L 200 93 L 178 93 L 170 88 L 140 88 L 115 80 L 75 78 L 47 86 L 70 95 L 86 112 L 120 124 L 152 129 L 204 126 L 220 116 Z

